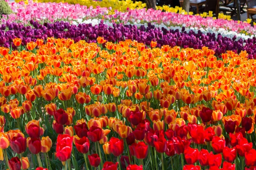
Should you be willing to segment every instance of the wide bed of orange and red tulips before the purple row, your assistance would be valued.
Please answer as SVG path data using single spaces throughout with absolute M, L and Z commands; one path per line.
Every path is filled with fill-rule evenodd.
M 256 60 L 246 51 L 13 43 L 0 47 L 3 168 L 256 168 Z

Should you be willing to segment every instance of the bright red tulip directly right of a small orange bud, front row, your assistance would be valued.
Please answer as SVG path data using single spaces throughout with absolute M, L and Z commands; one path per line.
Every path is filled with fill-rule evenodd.
M 123 139 L 118 139 L 118 138 L 112 137 L 109 140 L 109 148 L 110 148 L 111 153 L 114 156 L 120 156 L 124 151 Z

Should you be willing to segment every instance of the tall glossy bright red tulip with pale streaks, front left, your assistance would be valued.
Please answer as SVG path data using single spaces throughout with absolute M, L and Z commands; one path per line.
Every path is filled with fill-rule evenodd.
M 73 148 L 73 136 L 70 137 L 68 134 L 61 135 L 57 137 L 56 144 L 56 156 L 60 161 L 67 161 L 70 159 L 71 151 Z

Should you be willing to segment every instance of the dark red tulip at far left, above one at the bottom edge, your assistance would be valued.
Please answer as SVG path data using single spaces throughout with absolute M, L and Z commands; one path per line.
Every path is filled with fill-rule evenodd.
M 15 136 L 10 141 L 10 146 L 16 153 L 23 153 L 26 151 L 26 138 L 23 138 L 23 136 Z

